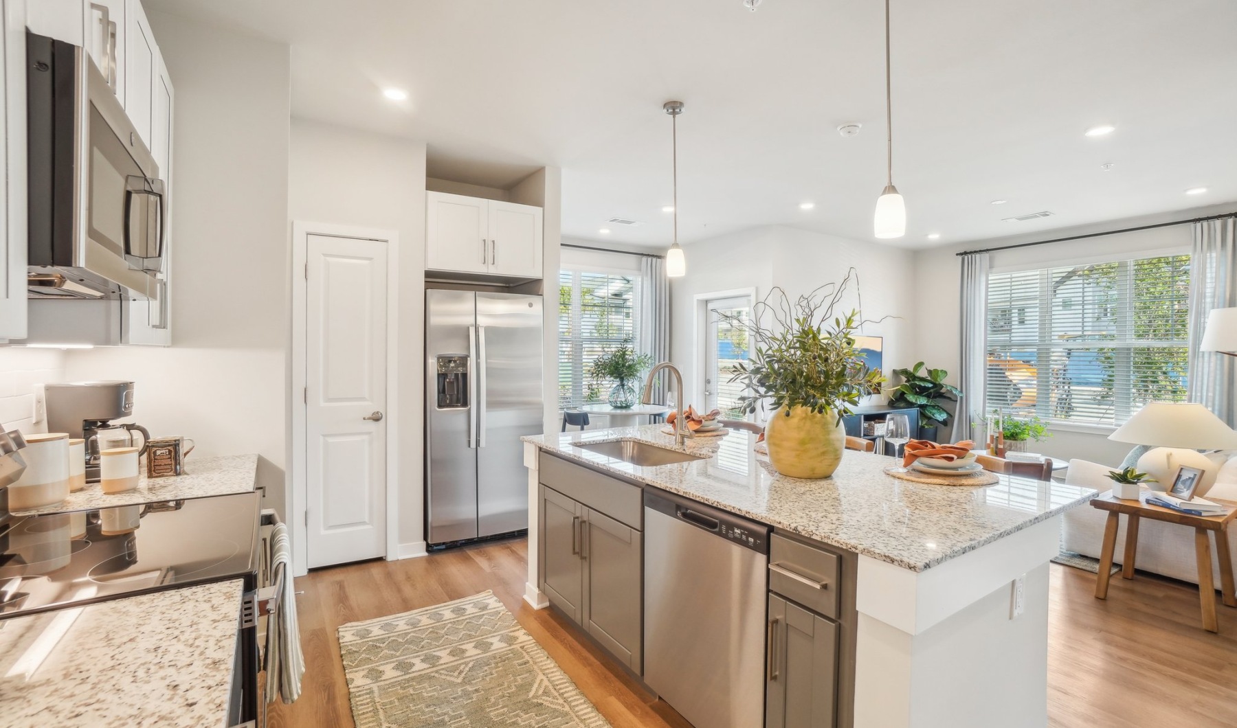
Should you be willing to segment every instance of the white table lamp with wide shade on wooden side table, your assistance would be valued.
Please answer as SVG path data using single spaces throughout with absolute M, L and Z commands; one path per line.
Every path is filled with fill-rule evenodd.
M 1216 482 L 1220 465 L 1199 450 L 1230 450 L 1237 447 L 1237 431 L 1195 403 L 1152 402 L 1142 408 L 1117 431 L 1108 435 L 1117 442 L 1150 445 L 1138 459 L 1138 470 L 1155 478 L 1152 489 L 1166 491 L 1181 466 L 1202 471 L 1195 496 L 1206 496 Z

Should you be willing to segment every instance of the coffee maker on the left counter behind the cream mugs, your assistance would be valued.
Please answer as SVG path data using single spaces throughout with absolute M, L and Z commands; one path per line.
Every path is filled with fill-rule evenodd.
M 132 382 L 68 382 L 43 384 L 47 407 L 47 431 L 68 433 L 85 440 L 85 480 L 99 481 L 99 441 L 95 435 L 109 428 L 125 428 L 142 434 L 142 451 L 150 433 L 135 424 L 111 420 L 134 414 Z

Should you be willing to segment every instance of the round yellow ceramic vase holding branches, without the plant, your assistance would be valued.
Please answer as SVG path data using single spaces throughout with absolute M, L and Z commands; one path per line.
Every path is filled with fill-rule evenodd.
M 846 430 L 837 413 L 816 414 L 805 407 L 777 410 L 764 425 L 769 463 L 793 478 L 826 478 L 834 475 L 846 450 Z

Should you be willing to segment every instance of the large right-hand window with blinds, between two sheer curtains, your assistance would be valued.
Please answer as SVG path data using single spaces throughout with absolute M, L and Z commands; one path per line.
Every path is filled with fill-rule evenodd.
M 986 412 L 1119 425 L 1185 402 L 1190 256 L 988 276 Z

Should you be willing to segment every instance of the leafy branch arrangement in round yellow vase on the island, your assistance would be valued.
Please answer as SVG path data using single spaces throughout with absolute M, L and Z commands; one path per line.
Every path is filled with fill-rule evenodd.
M 769 403 L 773 414 L 764 441 L 769 463 L 782 475 L 833 475 L 846 447 L 842 417 L 884 382 L 855 347 L 854 334 L 862 324 L 858 313 L 834 314 L 854 274 L 852 268 L 841 283 L 794 302 L 774 288 L 753 308 L 750 320 L 719 313 L 751 332 L 752 358 L 737 365 L 731 381 L 746 384 L 747 393 L 740 397 L 743 412 Z

